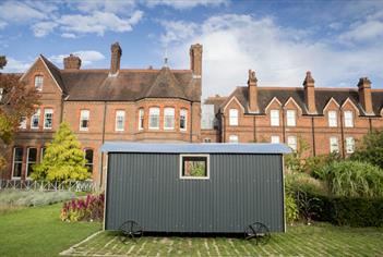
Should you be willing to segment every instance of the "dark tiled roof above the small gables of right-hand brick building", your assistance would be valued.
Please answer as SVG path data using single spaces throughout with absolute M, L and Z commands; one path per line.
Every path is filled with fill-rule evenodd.
M 260 113 L 265 113 L 265 108 L 273 100 L 277 98 L 282 105 L 285 105 L 290 98 L 292 98 L 297 105 L 302 109 L 303 114 L 308 114 L 307 107 L 304 105 L 304 89 L 299 87 L 278 88 L 278 87 L 259 87 L 258 88 L 258 103 L 260 107 Z M 217 109 L 223 109 L 232 97 L 236 97 L 238 101 L 243 106 L 246 112 L 248 112 L 248 87 L 237 87 L 232 94 L 226 98 L 223 102 L 214 102 Z M 359 105 L 358 89 L 351 88 L 315 88 L 315 105 L 318 114 L 323 114 L 323 109 L 328 103 L 331 98 L 342 106 L 347 98 L 358 108 L 361 115 L 364 114 L 362 107 Z M 376 115 L 380 115 L 380 111 L 383 108 L 383 90 L 372 89 L 372 105 Z

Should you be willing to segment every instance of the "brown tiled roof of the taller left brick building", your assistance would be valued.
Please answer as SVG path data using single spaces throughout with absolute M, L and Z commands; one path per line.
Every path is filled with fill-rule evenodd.
M 181 98 L 201 101 L 201 88 L 190 70 L 59 70 L 43 57 L 67 100 L 135 101 L 143 98 Z

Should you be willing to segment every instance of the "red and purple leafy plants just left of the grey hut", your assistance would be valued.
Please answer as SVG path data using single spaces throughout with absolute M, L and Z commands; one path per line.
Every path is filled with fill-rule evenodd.
M 72 199 L 63 204 L 62 221 L 95 221 L 104 219 L 104 193 L 87 195 L 86 198 Z

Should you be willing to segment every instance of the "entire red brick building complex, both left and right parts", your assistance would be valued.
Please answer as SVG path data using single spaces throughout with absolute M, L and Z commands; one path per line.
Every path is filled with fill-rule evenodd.
M 348 155 L 356 139 L 383 128 L 383 90 L 371 89 L 368 78 L 355 88 L 318 88 L 308 72 L 303 87 L 260 87 L 249 71 L 247 87 L 201 106 L 201 45 L 190 48 L 189 70 L 120 69 L 121 56 L 113 44 L 110 69 L 104 70 L 83 70 L 74 56 L 64 58 L 62 70 L 44 56 L 36 59 L 21 79 L 39 91 L 41 105 L 21 122 L 3 179 L 27 179 L 62 121 L 79 137 L 96 184 L 105 174 L 99 148 L 106 140 L 278 142 L 298 148 L 302 138 L 312 155 Z

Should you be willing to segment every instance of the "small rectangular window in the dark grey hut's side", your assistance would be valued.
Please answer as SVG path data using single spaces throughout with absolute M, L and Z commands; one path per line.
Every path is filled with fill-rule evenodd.
M 182 157 L 182 176 L 207 176 L 207 157 Z

